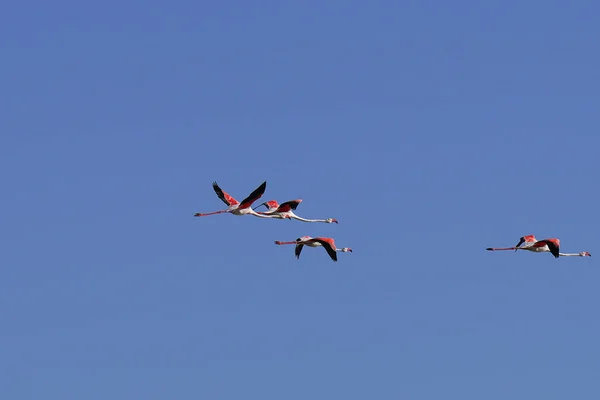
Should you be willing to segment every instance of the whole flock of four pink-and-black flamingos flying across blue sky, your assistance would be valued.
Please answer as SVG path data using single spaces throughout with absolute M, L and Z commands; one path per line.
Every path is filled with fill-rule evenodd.
M 221 199 L 223 203 L 227 206 L 224 210 L 213 211 L 209 213 L 196 213 L 194 217 L 205 217 L 208 215 L 215 214 L 225 214 L 230 213 L 233 215 L 253 215 L 258 218 L 271 218 L 271 219 L 282 219 L 282 220 L 292 220 L 295 219 L 301 222 L 321 222 L 321 223 L 338 223 L 335 218 L 325 218 L 325 219 L 308 219 L 303 218 L 294 213 L 300 203 L 302 203 L 302 199 L 294 199 L 288 200 L 283 203 L 278 203 L 276 200 L 269 200 L 261 203 L 255 208 L 252 208 L 252 204 L 254 204 L 258 199 L 260 199 L 265 190 L 267 188 L 267 182 L 263 182 L 259 187 L 254 189 L 252 193 L 250 193 L 244 200 L 241 202 L 236 200 L 229 193 L 223 191 L 217 184 L 217 182 L 213 182 L 213 190 L 217 194 L 217 197 Z M 258 208 L 265 206 L 267 208 L 266 211 L 256 211 Z M 300 258 L 300 253 L 304 246 L 308 247 L 323 247 L 329 257 L 333 261 L 337 261 L 337 253 L 346 253 L 352 252 L 352 249 L 349 247 L 338 248 L 335 244 L 335 240 L 329 237 L 311 237 L 311 236 L 301 236 L 294 241 L 275 241 L 276 245 L 289 245 L 293 244 L 294 254 L 297 259 Z M 560 240 L 557 238 L 549 238 L 537 240 L 535 235 L 526 235 L 519 238 L 519 242 L 514 247 L 488 247 L 486 250 L 488 251 L 506 251 L 506 250 L 514 250 L 515 252 L 518 250 L 527 250 L 534 253 L 550 253 L 555 258 L 559 257 L 591 257 L 592 255 L 587 251 L 582 251 L 579 253 L 561 253 L 560 252 Z

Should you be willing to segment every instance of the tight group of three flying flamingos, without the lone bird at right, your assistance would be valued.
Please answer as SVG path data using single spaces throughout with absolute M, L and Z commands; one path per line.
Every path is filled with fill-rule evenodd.
M 195 213 L 194 217 L 206 217 L 208 215 L 215 214 L 225 214 L 230 213 L 233 215 L 253 215 L 258 218 L 273 218 L 273 219 L 288 219 L 288 220 L 298 220 L 302 222 L 323 222 L 327 224 L 338 223 L 335 218 L 326 218 L 326 219 L 307 219 L 302 218 L 294 213 L 298 205 L 302 202 L 301 199 L 288 200 L 281 204 L 279 204 L 276 200 L 269 200 L 255 208 L 252 208 L 252 204 L 254 204 L 258 199 L 262 197 L 267 189 L 267 182 L 263 182 L 259 187 L 257 187 L 252 193 L 250 193 L 244 200 L 241 202 L 237 201 L 233 196 L 229 193 L 223 191 L 217 184 L 217 182 L 213 182 L 213 190 L 217 194 L 217 197 L 221 199 L 227 208 L 224 210 L 213 211 L 209 213 Z M 256 211 L 261 206 L 267 207 L 267 211 Z M 352 252 L 352 249 L 349 247 L 343 247 L 338 249 L 335 245 L 335 241 L 333 238 L 329 237 L 310 237 L 310 236 L 302 236 L 296 239 L 293 242 L 281 242 L 275 241 L 277 245 L 283 244 L 295 244 L 294 253 L 296 258 L 300 258 L 300 252 L 304 246 L 308 247 L 323 247 L 329 257 L 333 261 L 337 261 L 337 253 L 342 252 Z

